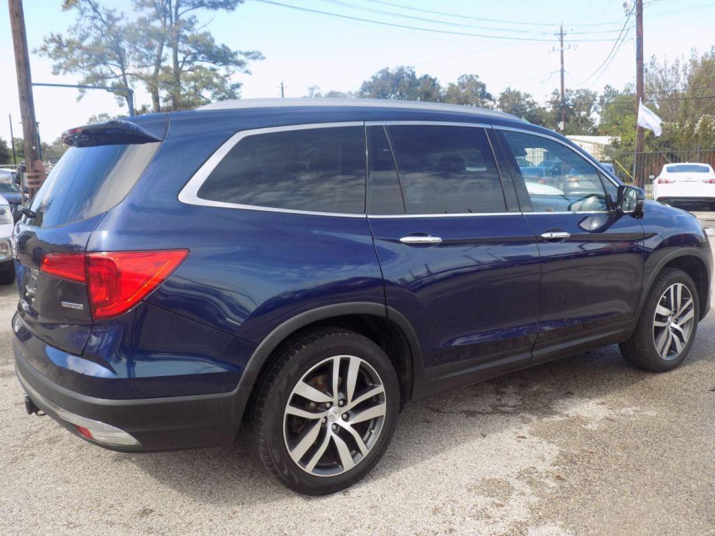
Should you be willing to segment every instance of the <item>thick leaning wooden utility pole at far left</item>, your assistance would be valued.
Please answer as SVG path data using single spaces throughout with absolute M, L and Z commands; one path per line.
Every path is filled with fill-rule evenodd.
M 30 74 L 30 56 L 27 51 L 27 34 L 25 33 L 25 16 L 22 10 L 22 0 L 9 0 L 10 26 L 12 29 L 12 44 L 15 49 L 15 70 L 17 71 L 17 92 L 20 100 L 22 116 L 22 137 L 25 145 L 25 166 L 27 187 L 31 194 L 36 192 L 44 181 L 44 167 L 37 158 L 38 151 L 35 104 L 32 99 L 32 77 Z

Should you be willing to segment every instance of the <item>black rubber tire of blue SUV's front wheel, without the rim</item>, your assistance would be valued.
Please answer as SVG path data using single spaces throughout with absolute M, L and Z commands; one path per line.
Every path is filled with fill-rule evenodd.
M 690 292 L 693 300 L 694 318 L 689 338 L 686 344 L 684 344 L 683 349 L 676 357 L 664 359 L 656 349 L 656 342 L 654 340 L 654 317 L 656 307 L 659 305 L 659 301 L 664 292 L 666 292 L 666 289 L 669 289 L 671 285 L 676 283 L 684 284 Z M 687 357 L 695 340 L 699 314 L 698 294 L 693 279 L 686 274 L 686 272 L 683 272 L 683 270 L 676 268 L 664 269 L 658 277 L 656 277 L 651 287 L 651 291 L 646 298 L 646 303 L 641 311 L 641 317 L 638 319 L 638 324 L 636 325 L 633 335 L 631 335 L 631 338 L 626 342 L 621 342 L 619 345 L 623 357 L 634 366 L 651 372 L 668 372 L 678 367 Z

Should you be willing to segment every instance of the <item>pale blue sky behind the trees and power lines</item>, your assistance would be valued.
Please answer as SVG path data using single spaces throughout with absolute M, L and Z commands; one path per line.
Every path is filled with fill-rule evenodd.
M 494 94 L 512 86 L 543 101 L 558 87 L 558 51 L 552 50 L 557 44 L 553 32 L 558 29 L 558 24 L 563 21 L 567 33 L 608 32 L 573 33 L 572 39 L 616 39 L 626 20 L 622 0 L 385 0 L 388 4 L 460 14 L 461 17 L 429 14 L 374 0 L 275 1 L 393 24 L 550 41 L 508 41 L 415 31 L 247 0 L 232 13 L 201 14 L 217 41 L 234 49 L 257 49 L 265 55 L 265 60 L 252 65 L 251 76 L 237 76 L 244 84 L 242 94 L 246 98 L 279 96 L 281 81 L 285 82 L 286 96 L 303 96 L 311 85 L 323 90 L 356 89 L 361 81 L 382 67 L 405 64 L 415 66 L 418 74 L 437 76 L 442 84 L 455 80 L 460 74 L 478 74 Z M 104 3 L 131 11 L 129 0 Z M 74 21 L 74 14 L 61 11 L 61 0 L 25 0 L 24 4 L 31 49 L 39 46 L 46 34 L 64 32 Z M 393 11 L 403 16 L 366 11 L 368 9 Z M 646 59 L 656 55 L 673 60 L 689 55 L 691 49 L 705 51 L 715 44 L 715 1 L 646 0 L 645 14 Z M 479 21 L 477 18 L 527 24 Z M 634 35 L 635 31 L 631 30 L 608 68 L 591 79 L 588 76 L 606 59 L 613 41 L 571 42 L 572 48 L 566 51 L 566 86 L 600 91 L 606 84 L 621 88 L 633 82 Z M 0 116 L 0 137 L 8 139 L 8 113 L 13 116 L 15 134 L 21 129 L 6 9 L 0 10 L 0 69 L 6 74 L 4 84 L 0 85 L 0 102 L 3 103 L 0 111 L 4 112 Z M 31 69 L 34 81 L 38 82 L 71 84 L 79 79 L 74 75 L 53 76 L 50 61 L 34 54 Z M 83 124 L 92 114 L 122 112 L 112 96 L 103 91 L 92 91 L 79 102 L 76 97 L 77 93 L 72 89 L 35 89 L 36 114 L 43 139 L 54 139 L 64 129 Z M 138 104 L 149 102 L 141 88 L 138 88 L 137 100 Z

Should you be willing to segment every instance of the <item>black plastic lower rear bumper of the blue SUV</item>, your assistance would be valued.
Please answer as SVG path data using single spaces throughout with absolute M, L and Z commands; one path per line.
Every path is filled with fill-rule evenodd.
M 152 452 L 229 445 L 238 432 L 250 394 L 238 387 L 232 392 L 182 397 L 122 400 L 89 397 L 40 374 L 24 358 L 17 338 L 13 346 L 17 377 L 35 405 L 74 435 L 109 450 Z M 139 445 L 90 440 L 70 422 L 74 417 L 117 428 L 134 437 Z

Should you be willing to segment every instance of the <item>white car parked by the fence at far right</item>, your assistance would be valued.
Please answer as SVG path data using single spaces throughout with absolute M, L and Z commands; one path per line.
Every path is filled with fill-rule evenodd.
M 666 164 L 653 182 L 653 199 L 667 204 L 706 203 L 715 210 L 715 172 L 710 164 Z

